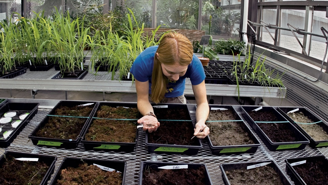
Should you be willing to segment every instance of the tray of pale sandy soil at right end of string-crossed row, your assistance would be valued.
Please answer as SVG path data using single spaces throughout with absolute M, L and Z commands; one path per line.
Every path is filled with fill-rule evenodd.
M 328 146 L 328 123 L 314 112 L 306 107 L 278 107 L 278 110 L 310 140 L 312 148 Z

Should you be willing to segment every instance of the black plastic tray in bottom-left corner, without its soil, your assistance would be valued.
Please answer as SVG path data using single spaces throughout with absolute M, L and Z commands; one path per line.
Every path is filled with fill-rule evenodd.
M 40 185 L 46 185 L 48 183 L 48 180 L 50 180 L 51 174 L 53 173 L 55 169 L 55 163 L 57 160 L 57 157 L 55 156 L 50 156 L 50 155 L 40 155 L 40 154 L 31 154 L 31 153 L 21 153 L 21 152 L 11 152 L 11 151 L 6 151 L 1 157 L 0 157 L 0 166 L 4 163 L 4 156 L 5 155 L 11 155 L 15 158 L 21 158 L 21 157 L 26 157 L 26 158 L 39 158 L 39 161 L 43 161 L 49 166 L 49 169 L 45 176 L 43 177 Z

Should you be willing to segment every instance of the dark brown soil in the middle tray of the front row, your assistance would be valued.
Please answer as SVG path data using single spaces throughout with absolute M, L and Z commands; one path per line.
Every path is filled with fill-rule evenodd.
M 198 169 L 164 170 L 156 166 L 146 166 L 142 175 L 142 185 L 203 185 L 205 167 Z

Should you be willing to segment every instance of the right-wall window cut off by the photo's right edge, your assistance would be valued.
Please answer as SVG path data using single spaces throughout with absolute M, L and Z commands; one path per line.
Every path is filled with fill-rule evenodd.
M 326 18 L 326 12 L 314 11 L 312 33 L 322 35 L 320 28 L 324 27 L 325 29 L 327 29 L 327 25 L 328 25 L 328 20 Z M 319 60 L 322 60 L 325 54 L 325 49 L 326 49 L 326 40 L 324 38 L 315 37 L 315 36 L 311 37 L 310 57 L 314 57 Z M 327 61 L 327 57 L 328 56 L 326 56 L 325 61 Z

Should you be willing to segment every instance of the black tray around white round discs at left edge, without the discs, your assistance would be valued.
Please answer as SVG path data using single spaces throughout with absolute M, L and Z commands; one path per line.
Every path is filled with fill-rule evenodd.
M 9 123 L 0 124 L 2 127 L 0 132 L 0 147 L 8 147 L 10 143 L 17 137 L 17 135 L 25 128 L 25 126 L 30 122 L 30 120 L 35 116 L 38 112 L 39 103 L 6 103 L 0 108 L 0 116 L 4 117 L 4 114 L 9 111 L 15 111 L 16 116 L 12 117 Z M 12 127 L 11 123 L 15 120 L 21 120 L 19 118 L 20 115 L 29 113 L 28 116 L 22 120 L 21 123 L 16 126 L 16 128 Z M 12 131 L 11 134 L 5 139 L 4 134 L 9 131 Z M 5 134 L 5 135 L 7 135 Z

